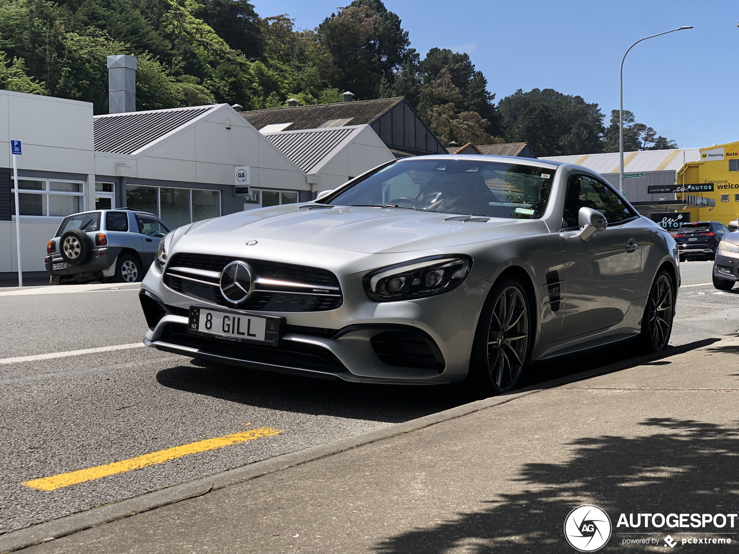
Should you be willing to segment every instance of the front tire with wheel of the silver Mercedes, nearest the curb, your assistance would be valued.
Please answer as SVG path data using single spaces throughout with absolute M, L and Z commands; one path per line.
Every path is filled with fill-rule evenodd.
M 480 312 L 465 380 L 474 397 L 511 391 L 531 357 L 533 317 L 528 295 L 517 278 L 496 283 Z M 484 396 L 483 396 L 484 395 Z

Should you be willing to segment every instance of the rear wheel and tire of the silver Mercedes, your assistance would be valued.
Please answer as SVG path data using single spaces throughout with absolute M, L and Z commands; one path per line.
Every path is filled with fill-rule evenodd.
M 644 351 L 660 352 L 667 348 L 675 317 L 675 286 L 667 271 L 660 271 L 654 278 L 647 297 L 647 307 L 641 318 L 639 342 Z

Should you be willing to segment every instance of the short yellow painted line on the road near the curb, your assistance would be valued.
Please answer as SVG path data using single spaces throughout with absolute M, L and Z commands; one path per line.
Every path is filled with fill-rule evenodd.
M 131 471 L 132 469 L 146 468 L 147 465 L 160 464 L 169 459 L 180 458 L 181 456 L 187 456 L 188 454 L 223 448 L 224 446 L 235 445 L 239 442 L 260 439 L 262 437 L 273 437 L 274 435 L 282 433 L 282 431 L 282 429 L 260 427 L 250 431 L 243 431 L 242 433 L 226 435 L 225 437 L 216 437 L 214 439 L 191 442 L 188 445 L 174 446 L 158 452 L 151 452 L 151 454 L 143 454 L 143 456 L 124 459 L 120 462 L 98 465 L 95 468 L 70 471 L 69 473 L 59 473 L 58 475 L 43 477 L 42 479 L 33 479 L 32 481 L 23 482 L 23 485 L 35 488 L 36 490 L 55 490 L 62 487 L 68 487 L 69 485 L 77 485 L 78 483 L 84 483 L 85 481 L 92 481 L 93 479 L 115 475 L 116 473 L 124 473 L 126 471 Z

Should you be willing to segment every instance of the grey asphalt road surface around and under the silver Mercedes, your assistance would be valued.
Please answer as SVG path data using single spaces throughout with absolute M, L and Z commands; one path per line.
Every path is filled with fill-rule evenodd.
M 675 343 L 737 330 L 739 293 L 715 294 L 710 272 L 710 262 L 681 264 Z M 145 347 L 106 350 L 141 340 L 137 287 L 72 287 L 0 291 L 0 358 L 99 350 L 0 360 L 0 533 L 469 400 L 449 386 L 357 386 L 192 363 Z M 630 355 L 619 347 L 540 364 L 524 385 Z M 55 490 L 22 484 L 261 428 L 281 432 Z

